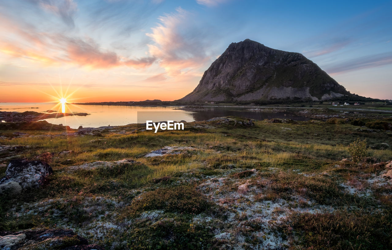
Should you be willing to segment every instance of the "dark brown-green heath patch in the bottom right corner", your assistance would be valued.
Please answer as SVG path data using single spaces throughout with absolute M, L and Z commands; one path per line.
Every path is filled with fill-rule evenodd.
M 390 213 L 337 211 L 326 214 L 294 213 L 279 226 L 283 235 L 304 248 L 388 249 L 392 244 Z

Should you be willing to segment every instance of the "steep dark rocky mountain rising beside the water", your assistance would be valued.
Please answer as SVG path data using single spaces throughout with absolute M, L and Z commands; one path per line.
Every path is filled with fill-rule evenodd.
M 327 100 L 351 95 L 302 54 L 246 39 L 232 43 L 204 72 L 185 102 L 273 99 Z

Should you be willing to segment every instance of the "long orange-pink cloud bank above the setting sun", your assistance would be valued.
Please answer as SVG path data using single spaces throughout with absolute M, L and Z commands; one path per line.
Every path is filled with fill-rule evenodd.
M 89 37 L 69 37 L 64 34 L 38 32 L 33 25 L 15 23 L 4 17 L 0 21 L 11 28 L 12 36 L 0 36 L 0 52 L 47 65 L 70 63 L 92 69 L 129 66 L 147 68 L 155 61 L 154 57 L 128 58 L 116 52 L 101 48 Z M 0 34 L 5 34 L 1 32 Z

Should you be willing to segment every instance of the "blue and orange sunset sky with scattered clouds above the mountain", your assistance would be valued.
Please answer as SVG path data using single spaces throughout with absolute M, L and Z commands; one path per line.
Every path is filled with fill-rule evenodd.
M 0 0 L 0 102 L 176 100 L 232 42 L 392 99 L 392 1 Z

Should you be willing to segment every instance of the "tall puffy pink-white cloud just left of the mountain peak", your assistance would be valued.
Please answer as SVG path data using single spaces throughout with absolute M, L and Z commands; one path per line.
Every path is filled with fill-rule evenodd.
M 150 55 L 157 58 L 170 76 L 199 68 L 210 59 L 203 41 L 207 36 L 202 29 L 189 25 L 191 15 L 179 7 L 176 13 L 160 16 L 160 23 L 146 34 L 154 42 L 148 45 Z

